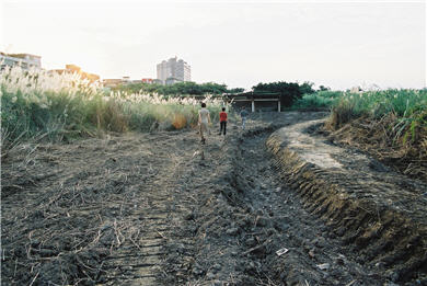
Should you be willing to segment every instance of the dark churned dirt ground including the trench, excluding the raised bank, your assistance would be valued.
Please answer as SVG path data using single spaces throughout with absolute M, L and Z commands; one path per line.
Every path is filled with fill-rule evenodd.
M 195 130 L 22 146 L 2 162 L 2 284 L 425 283 L 361 260 L 285 183 L 267 138 L 324 116 L 256 114 L 206 146 Z

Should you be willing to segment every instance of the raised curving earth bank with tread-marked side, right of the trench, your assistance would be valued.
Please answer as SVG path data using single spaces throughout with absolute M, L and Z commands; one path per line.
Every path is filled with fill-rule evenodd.
M 427 185 L 308 134 L 322 123 L 291 125 L 268 138 L 284 179 L 360 262 L 393 282 L 427 283 Z

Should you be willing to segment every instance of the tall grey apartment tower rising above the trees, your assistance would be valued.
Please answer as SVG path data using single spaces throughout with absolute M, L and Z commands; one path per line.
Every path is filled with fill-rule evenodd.
M 192 68 L 184 60 L 178 60 L 177 57 L 163 60 L 158 64 L 158 80 L 161 80 L 163 84 L 191 81 Z

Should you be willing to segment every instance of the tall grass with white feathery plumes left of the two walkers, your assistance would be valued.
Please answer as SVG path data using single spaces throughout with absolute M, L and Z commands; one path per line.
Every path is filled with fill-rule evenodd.
M 68 140 L 105 130 L 180 129 L 194 125 L 199 110 L 199 102 L 191 98 L 106 94 L 78 75 L 19 67 L 1 71 L 0 96 L 2 148 L 33 138 Z M 222 106 L 220 100 L 205 102 L 214 115 Z

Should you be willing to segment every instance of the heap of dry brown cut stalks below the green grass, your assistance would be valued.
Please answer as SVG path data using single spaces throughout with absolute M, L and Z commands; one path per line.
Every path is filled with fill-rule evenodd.
M 381 119 L 361 117 L 337 128 L 327 122 L 330 140 L 376 157 L 405 175 L 427 183 L 427 128 L 400 122 L 390 114 Z

